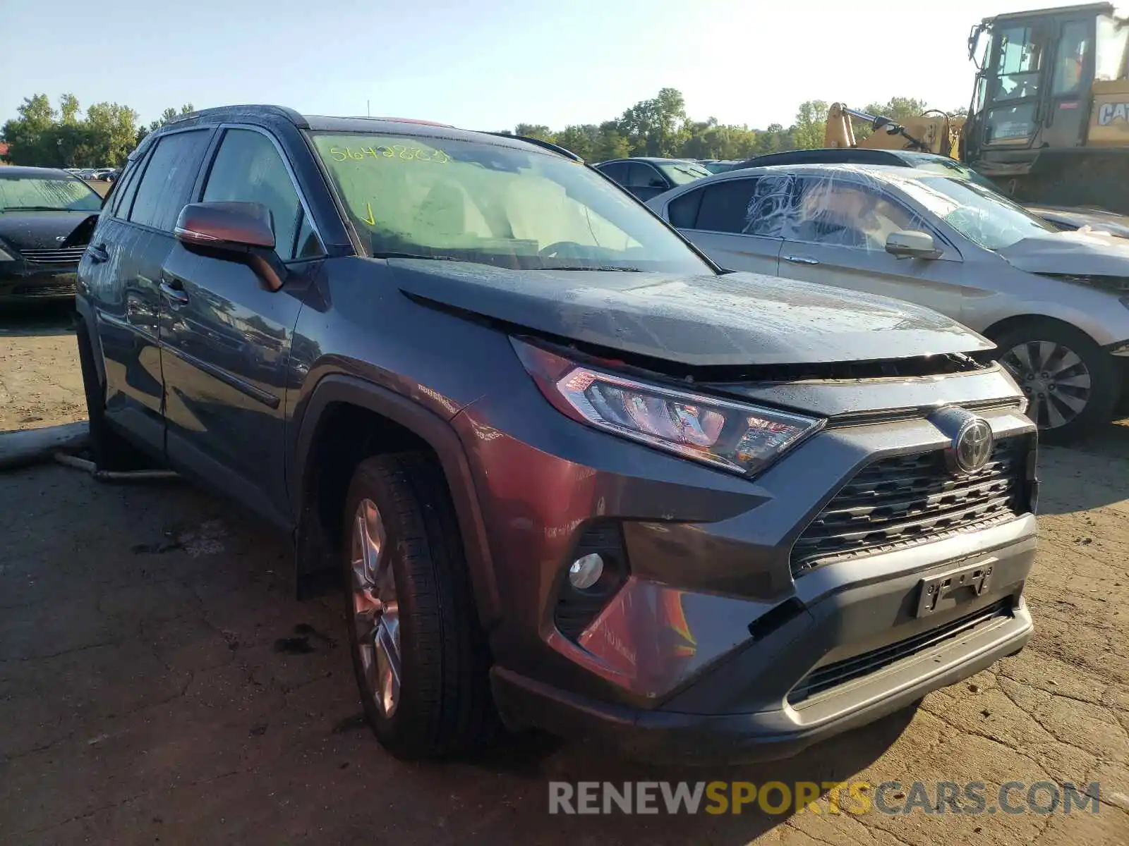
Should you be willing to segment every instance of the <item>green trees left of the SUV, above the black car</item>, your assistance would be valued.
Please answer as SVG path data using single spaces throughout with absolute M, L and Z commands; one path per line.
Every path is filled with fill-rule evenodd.
M 166 108 L 146 126 L 137 112 L 119 103 L 95 103 L 84 113 L 73 94 L 62 95 L 58 107 L 47 95 L 36 94 L 25 97 L 18 116 L 0 127 L 0 141 L 8 144 L 10 165 L 120 167 L 147 134 L 192 111 L 191 103 L 180 111 Z

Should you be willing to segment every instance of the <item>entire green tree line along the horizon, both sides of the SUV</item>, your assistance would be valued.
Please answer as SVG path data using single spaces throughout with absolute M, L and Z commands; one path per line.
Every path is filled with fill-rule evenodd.
M 893 97 L 889 103 L 872 103 L 864 112 L 901 121 L 926 109 L 922 100 Z M 64 94 L 58 107 L 45 94 L 25 97 L 18 116 L 0 127 L 0 140 L 8 144 L 7 160 L 12 165 L 40 167 L 117 167 L 149 132 L 159 129 L 192 104 L 166 108 L 148 126 L 139 124 L 132 108 L 117 103 L 96 103 L 82 113 L 75 95 Z M 587 161 L 660 156 L 690 159 L 746 159 L 780 150 L 812 149 L 823 146 L 828 104 L 806 100 L 796 109 L 790 126 L 773 123 L 765 129 L 746 124 L 723 124 L 709 117 L 695 121 L 686 115 L 682 92 L 663 88 L 655 97 L 640 100 L 616 118 L 603 123 L 572 124 L 562 130 L 519 123 L 507 134 L 539 138 L 560 144 Z M 856 125 L 856 138 L 869 134 L 868 126 Z

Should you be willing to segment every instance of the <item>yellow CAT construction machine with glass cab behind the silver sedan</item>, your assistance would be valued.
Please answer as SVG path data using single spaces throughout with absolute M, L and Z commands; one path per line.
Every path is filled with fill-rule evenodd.
M 891 121 L 831 106 L 826 147 L 921 150 L 960 159 L 1024 203 L 1129 214 L 1129 17 L 1111 3 L 984 18 L 968 116 Z M 851 120 L 874 132 L 856 141 Z

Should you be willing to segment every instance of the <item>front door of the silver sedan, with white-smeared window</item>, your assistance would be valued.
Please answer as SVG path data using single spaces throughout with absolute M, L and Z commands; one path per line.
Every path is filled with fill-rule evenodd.
M 896 196 L 878 183 L 809 176 L 799 178 L 796 196 L 780 275 L 892 297 L 960 319 L 960 253 Z M 942 256 L 900 258 L 886 253 L 886 238 L 898 231 L 931 235 Z

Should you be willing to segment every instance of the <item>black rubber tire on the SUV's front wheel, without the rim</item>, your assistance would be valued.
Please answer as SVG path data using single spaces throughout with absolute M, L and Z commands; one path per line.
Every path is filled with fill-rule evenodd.
M 366 500 L 379 512 L 399 607 L 400 688 L 391 714 L 366 676 L 353 619 L 352 534 Z M 490 653 L 454 505 L 434 459 L 401 452 L 357 466 L 345 500 L 342 565 L 357 685 L 380 743 L 409 760 L 450 758 L 489 746 L 499 725 Z

